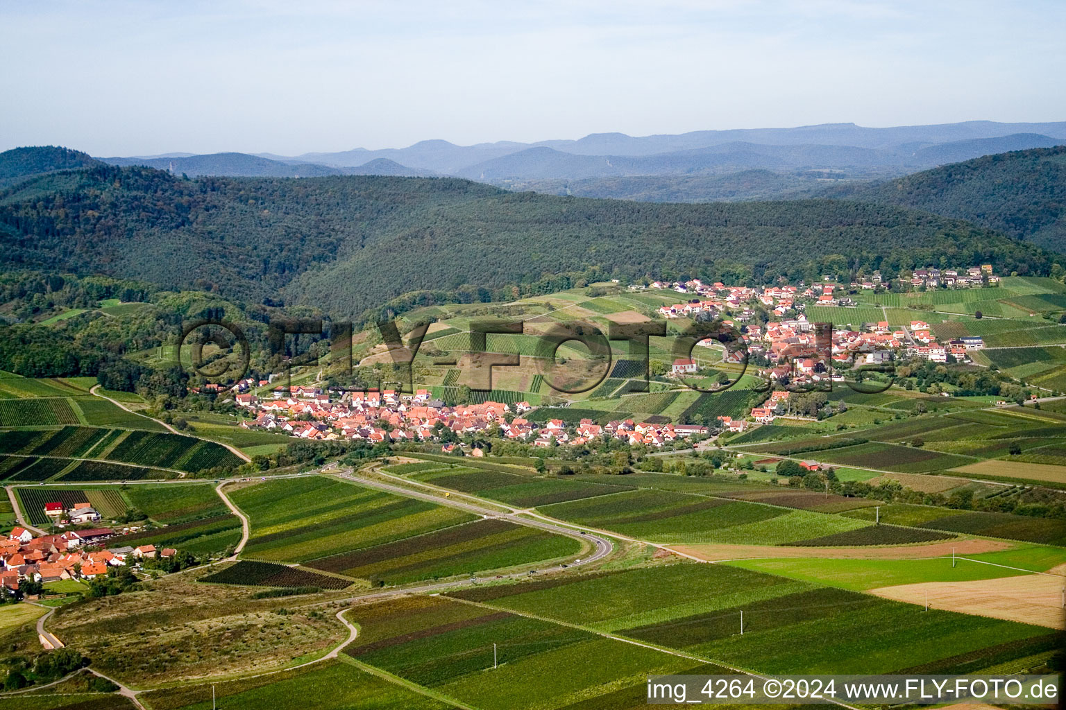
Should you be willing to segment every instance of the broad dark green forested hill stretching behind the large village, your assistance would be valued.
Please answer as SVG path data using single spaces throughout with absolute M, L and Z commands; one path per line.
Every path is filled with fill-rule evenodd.
M 580 278 L 769 282 L 846 278 L 856 265 L 891 273 L 979 262 L 1019 274 L 1051 264 L 964 221 L 843 200 L 652 204 L 458 179 L 190 180 L 115 166 L 0 194 L 5 267 L 101 273 L 335 315 L 418 290 L 487 299 Z

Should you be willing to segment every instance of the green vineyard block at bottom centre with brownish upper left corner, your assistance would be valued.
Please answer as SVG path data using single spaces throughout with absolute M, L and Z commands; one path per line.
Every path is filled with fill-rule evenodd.
M 485 710 L 562 708 L 641 686 L 649 673 L 682 673 L 702 665 L 447 597 L 361 605 L 348 616 L 361 633 L 344 649 L 346 655 Z M 499 663 L 495 670 L 494 643 Z

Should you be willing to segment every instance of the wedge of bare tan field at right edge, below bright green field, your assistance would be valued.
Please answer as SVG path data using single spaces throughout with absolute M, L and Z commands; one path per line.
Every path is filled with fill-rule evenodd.
M 871 594 L 897 601 L 925 604 L 932 609 L 960 611 L 1013 622 L 1066 629 L 1062 606 L 1066 579 L 1047 575 L 1024 575 L 969 582 L 922 582 L 870 590 Z

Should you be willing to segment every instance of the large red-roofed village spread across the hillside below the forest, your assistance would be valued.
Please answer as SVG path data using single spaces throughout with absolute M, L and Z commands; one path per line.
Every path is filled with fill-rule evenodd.
M 969 288 L 995 284 L 999 277 L 990 265 L 965 269 L 920 268 L 895 280 L 904 290 Z M 277 431 L 307 440 L 360 440 L 378 443 L 438 442 L 442 449 L 454 448 L 454 440 L 467 434 L 491 434 L 537 447 L 581 446 L 601 436 L 630 445 L 667 446 L 679 440 L 705 437 L 716 431 L 743 431 L 749 423 L 771 424 L 782 414 L 789 390 L 818 387 L 843 382 L 846 370 L 884 368 L 904 359 L 937 363 L 967 362 L 971 350 L 981 349 L 981 337 L 960 337 L 938 342 L 927 323 L 911 320 L 909 326 L 889 326 L 887 320 L 863 323 L 855 329 L 826 328 L 808 320 L 808 304 L 846 309 L 856 303 L 842 292 L 881 291 L 889 285 L 879 273 L 851 284 L 833 282 L 828 277 L 813 285 L 776 285 L 762 288 L 728 286 L 722 282 L 704 283 L 653 281 L 630 290 L 669 290 L 691 296 L 683 302 L 662 306 L 658 315 L 666 319 L 721 319 L 742 334 L 746 353 L 726 349 L 726 363 L 744 363 L 755 375 L 781 390 L 754 407 L 744 418 L 723 416 L 713 423 L 662 424 L 612 420 L 597 424 L 582 419 L 576 427 L 562 419 L 534 423 L 523 415 L 533 407 L 528 401 L 505 403 L 485 401 L 446 404 L 435 399 L 429 389 L 414 393 L 397 390 L 368 392 L 329 392 L 312 385 L 275 389 L 260 398 L 254 393 L 269 385 L 268 380 L 244 380 L 236 386 L 236 403 L 247 411 L 244 428 Z M 758 317 L 759 313 L 765 314 Z M 769 316 L 770 319 L 766 318 Z M 775 319 L 776 318 L 776 319 Z M 701 345 L 710 345 L 705 341 Z M 713 363 L 702 359 L 677 359 L 664 380 L 680 381 Z M 701 426 L 707 424 L 709 426 Z M 442 430 L 449 434 L 442 436 Z M 446 441 L 448 440 L 448 441 Z M 474 455 L 477 455 L 477 450 Z

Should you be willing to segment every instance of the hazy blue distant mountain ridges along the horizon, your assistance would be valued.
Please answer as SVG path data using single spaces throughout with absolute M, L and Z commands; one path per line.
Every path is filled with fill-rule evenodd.
M 420 141 L 406 148 L 316 152 L 285 156 L 172 153 L 102 159 L 114 165 L 147 165 L 189 176 L 322 177 L 328 175 L 456 176 L 507 189 L 589 194 L 642 201 L 700 202 L 806 195 L 814 178 L 885 180 L 985 154 L 1066 144 L 1066 121 L 865 128 L 824 123 L 786 129 L 693 131 L 629 136 L 594 133 L 577 141 L 503 141 L 457 146 Z M 755 181 L 748 192 L 693 180 L 749 170 L 780 179 Z M 657 181 L 633 180 L 658 178 Z M 621 180 L 626 179 L 626 180 Z M 580 181 L 580 185 L 570 185 Z M 778 192 L 772 191 L 772 183 Z M 683 183 L 683 185 L 681 184 Z M 658 184 L 657 188 L 655 185 Z

